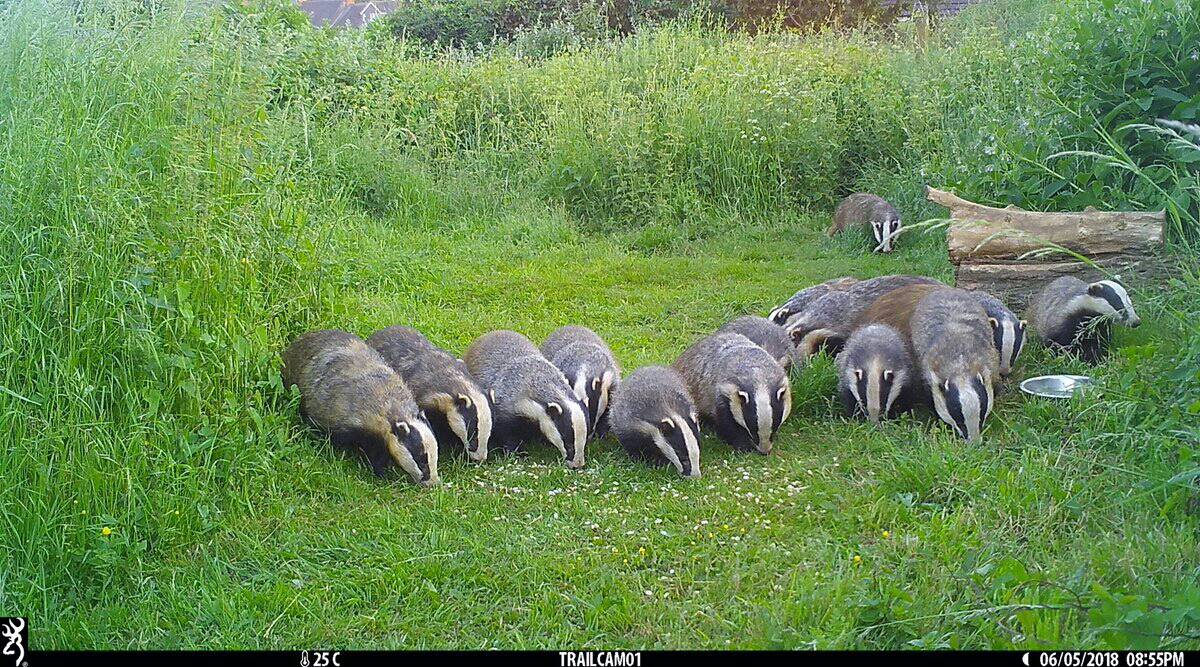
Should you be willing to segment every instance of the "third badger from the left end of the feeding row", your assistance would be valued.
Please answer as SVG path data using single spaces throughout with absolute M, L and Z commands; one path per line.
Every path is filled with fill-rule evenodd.
M 516 450 L 541 435 L 563 453 L 568 468 L 583 467 L 587 405 L 529 338 L 516 331 L 484 334 L 467 348 L 463 361 L 494 397 L 493 444 Z

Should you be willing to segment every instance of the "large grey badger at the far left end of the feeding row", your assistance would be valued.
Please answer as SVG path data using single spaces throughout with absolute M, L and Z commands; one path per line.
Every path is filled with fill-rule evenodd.
M 310 331 L 282 356 L 283 386 L 300 387 L 300 415 L 334 446 L 362 452 L 379 476 L 395 461 L 421 486 L 440 481 L 433 431 L 404 381 L 361 338 Z

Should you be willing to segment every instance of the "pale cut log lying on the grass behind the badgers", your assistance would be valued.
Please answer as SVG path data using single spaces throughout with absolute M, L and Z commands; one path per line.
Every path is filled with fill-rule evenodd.
M 932 187 L 925 194 L 950 210 L 947 247 L 955 284 L 991 292 L 1014 310 L 1060 276 L 1092 281 L 1115 274 L 1144 283 L 1169 272 L 1164 211 L 1040 212 L 985 206 Z M 1043 252 L 1055 246 L 1070 252 Z

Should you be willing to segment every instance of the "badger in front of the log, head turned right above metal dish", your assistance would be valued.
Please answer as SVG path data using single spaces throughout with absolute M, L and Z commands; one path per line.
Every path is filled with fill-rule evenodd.
M 1084 281 L 1063 276 L 1050 282 L 1030 307 L 1033 329 L 1050 349 L 1073 351 L 1097 363 L 1108 351 L 1112 322 L 1135 328 L 1141 318 L 1129 293 L 1115 281 Z

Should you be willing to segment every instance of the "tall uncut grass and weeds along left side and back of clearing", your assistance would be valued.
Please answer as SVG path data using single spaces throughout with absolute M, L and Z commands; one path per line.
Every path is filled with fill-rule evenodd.
M 164 585 L 164 563 L 294 485 L 272 471 L 311 443 L 276 350 L 360 319 L 347 292 L 454 262 L 464 239 L 528 257 L 578 227 L 686 254 L 859 187 L 917 217 L 924 182 L 1164 205 L 1082 156 L 1045 160 L 1088 148 L 1098 113 L 1064 84 L 1092 56 L 1055 42 L 1096 7 L 1061 5 L 1020 35 L 967 17 L 923 47 L 683 24 L 534 61 L 312 31 L 282 0 L 6 6 L 0 611 L 92 637 L 82 611 Z M 1184 2 L 1114 5 L 1195 34 Z M 1171 197 L 1194 226 L 1194 185 Z M 407 263 L 355 246 L 378 224 L 416 240 Z

